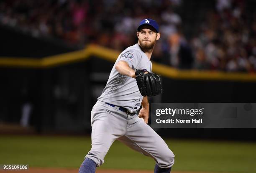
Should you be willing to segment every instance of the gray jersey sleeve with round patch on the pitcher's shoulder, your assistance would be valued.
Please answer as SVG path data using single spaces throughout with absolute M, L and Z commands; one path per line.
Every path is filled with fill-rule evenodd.
M 136 51 L 124 51 L 121 54 L 119 61 L 127 62 L 129 66 L 135 70 L 141 61 L 141 55 Z

